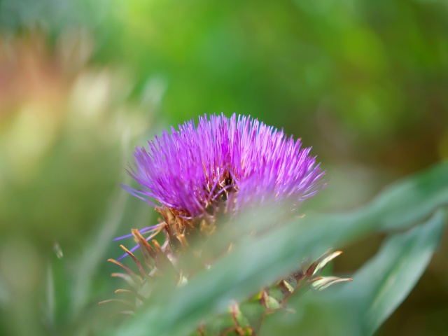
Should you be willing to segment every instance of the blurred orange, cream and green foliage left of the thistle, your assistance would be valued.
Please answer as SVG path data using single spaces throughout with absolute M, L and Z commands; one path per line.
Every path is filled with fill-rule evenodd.
M 2 335 L 47 334 L 42 323 L 78 316 L 77 302 L 84 307 L 83 300 L 92 300 L 89 290 L 94 281 L 88 276 L 99 270 L 122 218 L 120 212 L 106 214 L 116 214 L 114 208 L 120 205 L 113 194 L 123 180 L 130 140 L 148 129 L 152 108 L 127 103 L 130 83 L 125 73 L 87 66 L 90 51 L 91 41 L 82 34 L 64 36 L 54 52 L 41 34 L 2 36 Z M 139 113 L 144 107 L 145 118 Z M 133 221 L 138 223 L 138 216 Z M 86 251 L 90 255 L 76 261 L 86 248 L 85 238 L 102 224 L 107 244 L 91 239 L 92 248 Z M 50 255 L 70 260 L 62 262 L 55 277 L 48 268 Z M 76 275 L 64 276 L 70 267 Z M 45 286 L 55 286 L 48 300 L 57 295 L 59 306 L 42 309 Z M 67 288 L 72 291 L 66 292 Z M 84 293 L 77 293 L 78 288 Z M 46 316 L 53 310 L 57 318 Z M 74 321 L 73 316 L 68 321 Z

